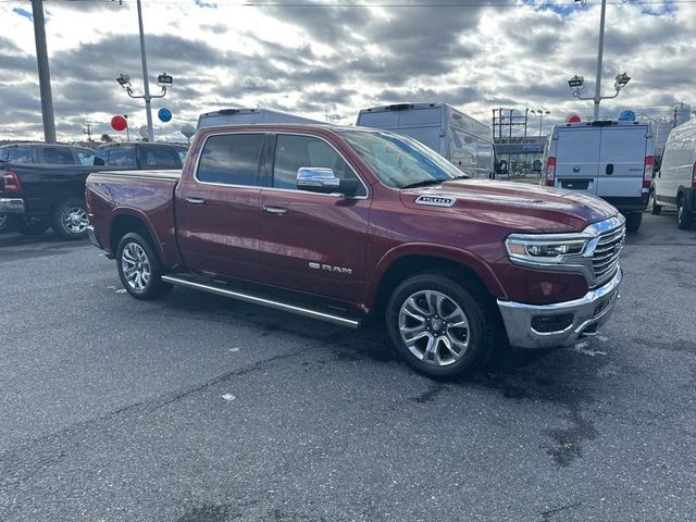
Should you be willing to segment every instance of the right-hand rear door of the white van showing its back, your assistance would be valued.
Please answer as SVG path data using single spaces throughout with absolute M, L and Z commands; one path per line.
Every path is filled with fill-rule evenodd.
M 597 196 L 642 197 L 646 132 L 647 128 L 643 125 L 601 127 Z

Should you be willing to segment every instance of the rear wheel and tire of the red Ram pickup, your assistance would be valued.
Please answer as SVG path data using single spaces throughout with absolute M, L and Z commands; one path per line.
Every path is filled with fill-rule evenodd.
M 119 241 L 116 268 L 123 287 L 136 299 L 157 299 L 172 289 L 160 278 L 162 265 L 150 241 L 135 232 Z

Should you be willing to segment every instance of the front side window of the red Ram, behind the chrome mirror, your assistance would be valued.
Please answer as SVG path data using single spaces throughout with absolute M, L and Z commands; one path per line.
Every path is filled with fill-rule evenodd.
M 356 174 L 326 141 L 311 136 L 278 135 L 273 165 L 273 186 L 297 189 L 297 171 L 302 166 L 332 169 L 336 177 L 357 179 Z M 364 187 L 357 196 L 364 196 Z

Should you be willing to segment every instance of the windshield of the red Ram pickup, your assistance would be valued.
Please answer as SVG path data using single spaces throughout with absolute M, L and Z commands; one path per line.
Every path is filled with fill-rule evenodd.
M 385 132 L 345 130 L 341 136 L 388 187 L 410 188 L 468 177 L 419 141 Z

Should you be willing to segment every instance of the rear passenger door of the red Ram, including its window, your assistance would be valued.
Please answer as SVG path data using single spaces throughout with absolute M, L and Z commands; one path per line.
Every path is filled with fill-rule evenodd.
M 187 268 L 209 276 L 259 276 L 263 134 L 212 135 L 194 179 L 176 194 L 178 245 Z

